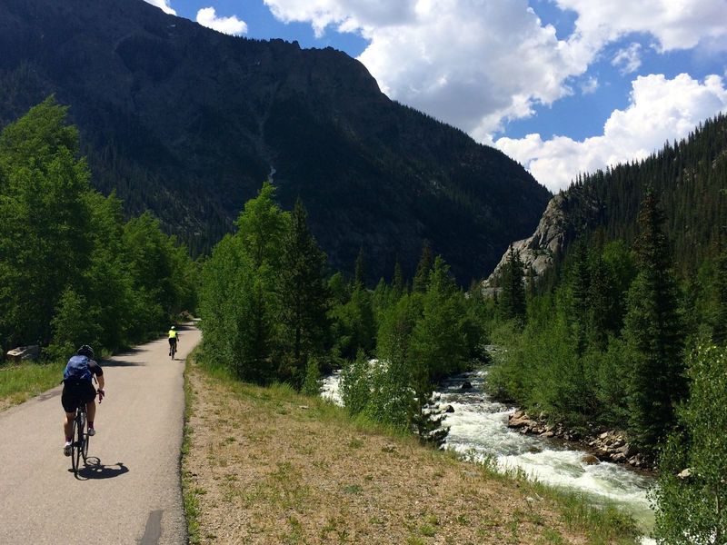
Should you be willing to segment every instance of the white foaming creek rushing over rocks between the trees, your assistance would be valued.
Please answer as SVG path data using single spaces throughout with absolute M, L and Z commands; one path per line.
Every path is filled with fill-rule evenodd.
M 324 379 L 322 395 L 343 404 L 338 391 L 338 372 Z M 487 369 L 453 376 L 444 381 L 433 398 L 454 411 L 443 421 L 450 431 L 444 447 L 471 461 L 493 460 L 501 470 L 522 470 L 530 478 L 549 485 L 577 490 L 593 504 L 606 502 L 632 515 L 640 530 L 648 534 L 653 511 L 647 490 L 653 479 L 616 463 L 587 463 L 583 449 L 555 439 L 524 435 L 507 427 L 515 409 L 493 401 L 484 392 Z M 471 389 L 462 390 L 464 381 Z M 643 540 L 644 543 L 652 542 Z

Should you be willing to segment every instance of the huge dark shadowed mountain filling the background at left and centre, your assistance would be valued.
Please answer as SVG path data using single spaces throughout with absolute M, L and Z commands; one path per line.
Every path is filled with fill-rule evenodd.
M 549 193 L 517 163 L 382 94 L 347 55 L 222 35 L 142 0 L 0 0 L 0 124 L 70 104 L 96 186 L 204 253 L 269 173 L 335 268 L 373 279 L 427 239 L 466 282 Z

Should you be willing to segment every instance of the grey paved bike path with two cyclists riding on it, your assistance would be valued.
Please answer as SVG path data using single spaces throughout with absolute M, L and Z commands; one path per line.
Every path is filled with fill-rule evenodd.
M 62 451 L 60 386 L 0 412 L 0 543 L 186 542 L 182 373 L 200 339 L 182 327 L 174 362 L 166 339 L 101 362 L 106 397 L 88 452 L 97 464 L 78 479 Z

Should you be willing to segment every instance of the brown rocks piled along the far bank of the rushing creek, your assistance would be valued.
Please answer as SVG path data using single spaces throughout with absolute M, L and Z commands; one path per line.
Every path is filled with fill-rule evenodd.
M 540 435 L 552 437 L 563 441 L 578 443 L 589 453 L 583 457 L 586 463 L 598 463 L 599 461 L 612 461 L 625 463 L 633 468 L 645 471 L 652 471 L 653 465 L 646 456 L 636 450 L 628 442 L 622 431 L 602 431 L 593 435 L 582 435 L 578 431 L 569 430 L 563 424 L 549 423 L 546 416 L 541 413 L 533 418 L 525 411 L 515 411 L 508 418 L 509 428 L 516 429 L 523 434 Z

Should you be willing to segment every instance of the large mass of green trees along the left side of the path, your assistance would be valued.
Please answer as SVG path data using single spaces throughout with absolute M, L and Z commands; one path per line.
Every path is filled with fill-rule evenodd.
M 195 268 L 150 213 L 91 186 L 67 108 L 48 98 L 0 134 L 0 345 L 115 350 L 194 309 Z

